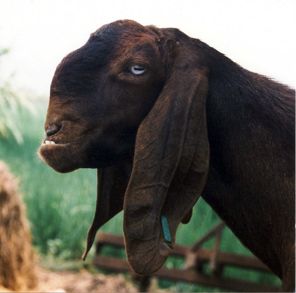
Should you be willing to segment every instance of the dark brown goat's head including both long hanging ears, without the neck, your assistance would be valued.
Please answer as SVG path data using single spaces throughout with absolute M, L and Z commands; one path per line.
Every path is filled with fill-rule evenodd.
M 206 71 L 185 34 L 176 42 L 173 32 L 129 20 L 98 29 L 57 67 L 39 153 L 58 172 L 99 169 L 83 258 L 122 208 L 133 270 L 153 273 L 169 256 L 207 176 Z

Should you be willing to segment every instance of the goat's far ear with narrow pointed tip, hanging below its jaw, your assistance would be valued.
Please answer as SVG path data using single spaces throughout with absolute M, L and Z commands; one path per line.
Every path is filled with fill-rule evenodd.
M 131 168 L 132 165 L 126 163 L 97 170 L 96 210 L 91 227 L 87 232 L 87 245 L 82 256 L 83 260 L 94 243 L 98 229 L 123 210 L 123 198 L 131 177 Z

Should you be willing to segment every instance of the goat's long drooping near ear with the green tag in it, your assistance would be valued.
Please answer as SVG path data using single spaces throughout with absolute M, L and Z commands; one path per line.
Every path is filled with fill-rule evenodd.
M 167 81 L 137 132 L 124 198 L 126 253 L 138 274 L 164 264 L 178 225 L 190 220 L 209 167 L 207 70 L 190 44 L 176 42 L 172 52 Z

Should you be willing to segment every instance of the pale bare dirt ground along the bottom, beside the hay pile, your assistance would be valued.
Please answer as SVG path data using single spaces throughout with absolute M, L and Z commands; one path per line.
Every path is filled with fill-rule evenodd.
M 91 274 L 86 270 L 79 273 L 70 271 L 54 272 L 42 267 L 36 268 L 38 287 L 29 292 L 138 292 L 137 287 L 127 281 L 124 275 Z M 156 287 L 152 279 L 150 292 L 166 292 Z M 15 292 L 0 286 L 0 292 Z

